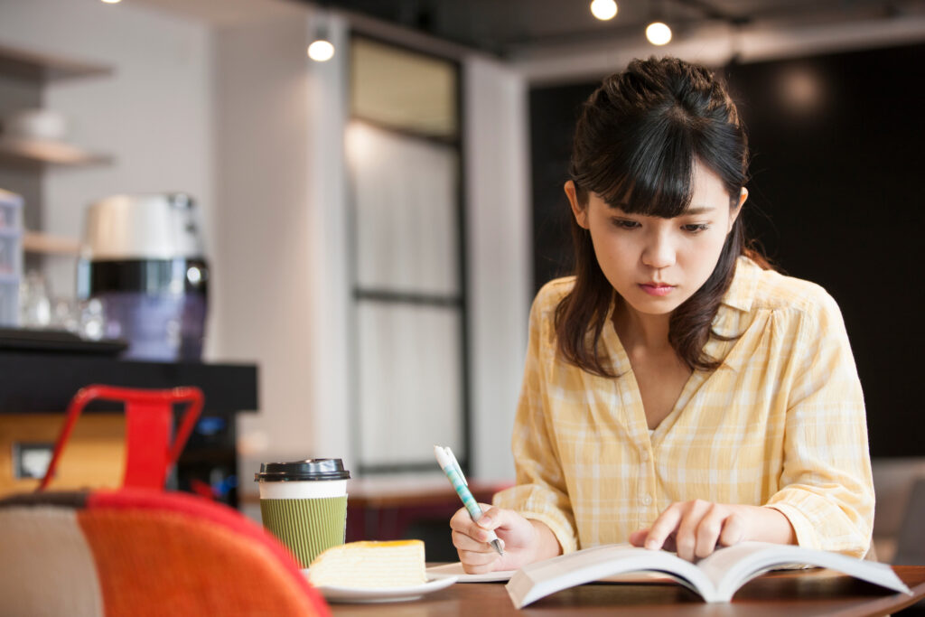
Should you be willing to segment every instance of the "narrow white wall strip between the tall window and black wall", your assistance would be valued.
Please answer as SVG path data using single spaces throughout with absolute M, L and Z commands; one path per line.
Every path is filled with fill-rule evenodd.
M 510 480 L 530 311 L 530 178 L 524 78 L 463 61 L 474 475 Z

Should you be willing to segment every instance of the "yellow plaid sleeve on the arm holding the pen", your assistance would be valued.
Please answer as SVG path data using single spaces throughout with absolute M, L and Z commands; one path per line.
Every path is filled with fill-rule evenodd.
M 524 383 L 514 420 L 512 451 L 517 485 L 496 494 L 493 503 L 546 524 L 559 540 L 562 552 L 568 553 L 577 548 L 577 533 L 566 479 L 552 438 L 548 393 L 542 377 L 544 354 L 550 352 L 549 320 L 541 315 L 542 305 L 537 297 L 530 312 Z

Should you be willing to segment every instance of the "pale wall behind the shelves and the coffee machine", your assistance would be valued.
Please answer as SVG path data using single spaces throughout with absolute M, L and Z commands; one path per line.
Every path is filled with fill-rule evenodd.
M 44 231 L 79 238 L 86 206 L 118 192 L 185 191 L 201 207 L 211 246 L 215 203 L 207 27 L 129 4 L 4 0 L 0 43 L 114 68 L 108 77 L 53 81 L 43 93 L 44 106 L 71 120 L 69 142 L 115 158 L 111 166 L 44 173 Z M 56 257 L 50 265 L 52 292 L 73 297 L 75 261 Z

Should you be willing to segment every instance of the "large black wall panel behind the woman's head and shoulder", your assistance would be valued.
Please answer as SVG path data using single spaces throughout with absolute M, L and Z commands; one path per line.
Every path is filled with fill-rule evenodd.
M 874 456 L 925 455 L 923 66 L 916 45 L 717 69 L 749 131 L 746 223 L 779 269 L 841 306 Z M 561 186 L 596 85 L 530 93 L 536 289 L 571 267 Z

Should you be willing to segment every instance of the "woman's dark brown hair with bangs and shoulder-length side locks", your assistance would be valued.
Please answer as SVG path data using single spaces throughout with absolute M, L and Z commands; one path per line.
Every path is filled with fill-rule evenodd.
M 633 60 L 603 81 L 584 104 L 575 127 L 569 174 L 578 201 L 597 193 L 629 213 L 672 218 L 684 213 L 693 192 L 696 163 L 715 173 L 738 203 L 748 172 L 748 142 L 735 104 L 706 68 L 677 58 Z M 598 354 L 611 302 L 619 297 L 601 271 L 591 236 L 572 217 L 573 290 L 556 307 L 559 352 L 586 371 L 614 376 Z M 691 369 L 720 363 L 703 349 L 735 261 L 746 254 L 742 216 L 736 218 L 707 282 L 672 313 L 669 342 Z

